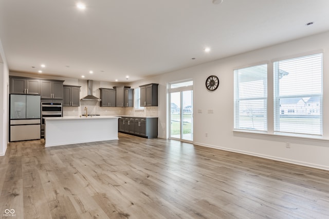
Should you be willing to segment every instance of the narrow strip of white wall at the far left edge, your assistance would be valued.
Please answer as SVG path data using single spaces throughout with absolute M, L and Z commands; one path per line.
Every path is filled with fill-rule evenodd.
M 0 156 L 5 155 L 8 143 L 8 65 L 0 40 Z

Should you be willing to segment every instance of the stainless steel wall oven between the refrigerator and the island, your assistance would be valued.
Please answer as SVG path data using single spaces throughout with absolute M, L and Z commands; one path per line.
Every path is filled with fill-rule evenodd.
M 62 116 L 62 103 L 41 103 L 41 138 L 45 137 L 45 118 Z

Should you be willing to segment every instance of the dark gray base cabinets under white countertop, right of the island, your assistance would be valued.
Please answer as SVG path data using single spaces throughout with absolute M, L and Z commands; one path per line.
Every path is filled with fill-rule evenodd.
M 157 117 L 121 117 L 119 118 L 119 132 L 154 138 L 158 136 Z

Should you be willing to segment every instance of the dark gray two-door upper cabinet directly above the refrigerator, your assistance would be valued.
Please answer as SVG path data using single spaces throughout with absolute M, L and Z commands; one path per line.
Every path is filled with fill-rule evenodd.
M 10 93 L 40 94 L 40 79 L 11 77 Z

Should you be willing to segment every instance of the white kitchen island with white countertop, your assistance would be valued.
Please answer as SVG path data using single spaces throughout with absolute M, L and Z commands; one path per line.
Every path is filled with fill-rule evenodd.
M 118 139 L 118 116 L 45 118 L 45 147 Z

